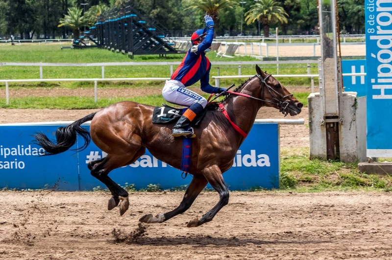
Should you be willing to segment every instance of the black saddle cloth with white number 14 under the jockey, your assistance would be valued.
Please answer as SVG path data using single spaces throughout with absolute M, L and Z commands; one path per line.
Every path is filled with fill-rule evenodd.
M 163 106 L 157 106 L 154 108 L 152 113 L 152 123 L 155 124 L 168 124 L 176 123 L 178 119 L 182 116 L 183 109 L 175 108 L 167 104 L 162 104 Z M 207 114 L 207 108 L 204 108 L 192 121 L 192 126 L 200 125 L 201 120 Z

